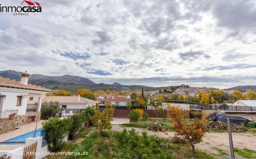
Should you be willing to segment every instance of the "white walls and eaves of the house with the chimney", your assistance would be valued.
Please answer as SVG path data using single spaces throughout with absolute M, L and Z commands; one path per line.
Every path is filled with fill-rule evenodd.
M 17 106 L 17 99 L 18 99 L 17 96 L 29 95 L 29 93 L 36 93 L 36 94 L 44 95 L 47 92 L 27 90 L 27 89 L 11 89 L 11 88 L 2 87 L 2 88 L 0 88 L 0 93 L 1 93 L 1 95 L 6 95 L 5 99 L 2 101 L 3 102 L 2 110 L 18 109 L 17 115 L 24 115 L 24 114 L 26 114 L 27 101 L 28 101 L 29 97 L 23 96 L 22 100 L 21 100 L 21 106 Z M 42 98 L 39 98 L 39 99 L 41 101 Z M 40 101 L 39 101 L 39 104 L 41 104 Z

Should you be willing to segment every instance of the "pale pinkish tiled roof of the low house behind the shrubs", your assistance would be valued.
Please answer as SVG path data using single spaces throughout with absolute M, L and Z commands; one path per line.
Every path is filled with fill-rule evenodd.
M 52 99 L 55 101 L 58 101 L 60 103 L 78 103 L 78 104 L 88 104 L 88 103 L 98 103 L 96 101 L 80 97 L 80 101 L 77 101 L 77 96 L 46 96 L 46 98 L 43 99 L 43 102 L 51 102 Z

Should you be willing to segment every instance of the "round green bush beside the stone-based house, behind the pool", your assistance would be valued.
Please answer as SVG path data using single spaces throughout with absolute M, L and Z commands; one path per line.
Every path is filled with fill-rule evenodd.
M 54 110 L 53 110 L 54 106 Z M 61 107 L 59 102 L 43 102 L 41 106 L 41 119 L 48 119 L 51 117 L 52 111 L 54 116 L 61 113 Z

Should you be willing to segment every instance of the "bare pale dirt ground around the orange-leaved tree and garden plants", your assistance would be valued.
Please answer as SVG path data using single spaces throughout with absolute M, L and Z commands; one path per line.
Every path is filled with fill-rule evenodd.
M 131 130 L 132 127 L 123 127 L 120 125 L 112 125 L 113 131 L 122 131 L 124 128 L 127 130 Z M 134 128 L 139 134 L 141 134 L 142 131 L 147 131 L 148 135 L 156 135 L 162 138 L 169 138 L 173 137 L 173 132 L 152 132 L 148 131 L 146 128 Z M 251 150 L 256 151 L 256 134 L 255 133 L 232 133 L 233 137 L 233 144 L 234 147 L 243 149 L 248 148 Z M 208 153 L 212 154 L 219 154 L 217 151 L 217 148 L 222 149 L 223 152 L 230 154 L 229 149 L 229 134 L 228 133 L 207 133 L 203 137 L 203 142 L 200 144 L 196 144 L 195 148 L 201 149 L 203 151 L 206 151 Z M 215 155 L 215 156 L 216 156 Z M 229 156 L 217 156 L 216 158 L 229 158 Z M 241 159 L 241 156 L 236 156 L 237 159 Z

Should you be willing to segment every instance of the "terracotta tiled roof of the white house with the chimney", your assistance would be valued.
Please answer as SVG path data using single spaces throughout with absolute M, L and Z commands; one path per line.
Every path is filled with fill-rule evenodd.
M 46 89 L 44 87 L 36 86 L 33 84 L 21 84 L 20 81 L 11 80 L 9 78 L 4 78 L 0 76 L 0 86 L 1 87 L 10 87 L 15 89 L 30 89 L 30 90 L 40 90 L 40 91 L 46 91 L 49 92 L 50 89 Z

